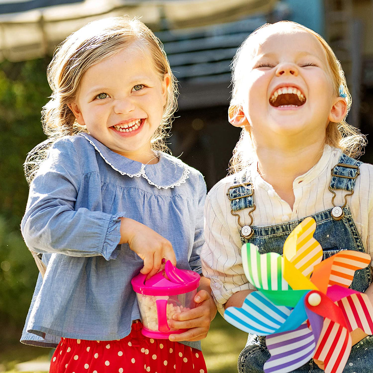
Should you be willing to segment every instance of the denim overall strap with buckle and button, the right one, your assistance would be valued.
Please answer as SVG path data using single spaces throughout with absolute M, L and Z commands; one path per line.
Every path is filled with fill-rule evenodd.
M 332 217 L 334 220 L 341 220 L 344 217 L 343 208 L 347 205 L 347 197 L 354 194 L 356 178 L 360 175 L 360 165 L 363 162 L 357 161 L 346 154 L 341 154 L 338 163 L 332 168 L 332 179 L 330 180 L 329 191 L 332 192 Z M 349 193 L 344 195 L 345 203 L 343 206 L 336 206 L 334 198 L 335 189 L 342 189 Z

